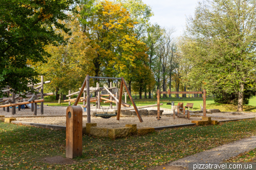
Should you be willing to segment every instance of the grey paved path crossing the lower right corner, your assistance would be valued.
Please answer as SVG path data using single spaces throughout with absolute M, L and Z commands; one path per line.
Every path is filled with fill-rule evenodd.
M 197 153 L 196 155 L 187 156 L 174 162 L 169 162 L 167 165 L 188 167 L 188 162 L 222 162 L 225 159 L 237 156 L 254 148 L 256 148 L 256 136 L 251 136 Z

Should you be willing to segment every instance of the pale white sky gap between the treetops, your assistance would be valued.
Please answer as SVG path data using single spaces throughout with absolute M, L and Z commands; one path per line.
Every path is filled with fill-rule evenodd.
M 175 27 L 174 36 L 179 36 L 185 29 L 186 16 L 194 16 L 198 0 L 142 0 L 152 8 L 154 16 L 151 23 L 161 27 Z

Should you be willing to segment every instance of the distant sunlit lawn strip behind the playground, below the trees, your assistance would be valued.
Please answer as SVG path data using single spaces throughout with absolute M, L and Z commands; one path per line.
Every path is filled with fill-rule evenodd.
M 123 96 L 124 100 L 124 96 Z M 161 98 L 160 103 L 163 103 L 162 108 L 167 108 L 170 109 L 171 105 L 166 105 L 168 102 L 175 102 L 175 105 L 178 104 L 178 102 L 183 102 L 184 105 L 187 103 L 194 103 L 193 109 L 191 110 L 200 110 L 200 104 L 203 105 L 203 98 L 183 98 L 183 99 L 178 99 L 178 98 Z M 132 104 L 130 99 L 127 97 L 127 103 Z M 145 106 L 145 105 L 153 105 L 157 103 L 157 99 L 137 99 L 135 100 L 135 103 L 137 106 Z M 68 102 L 62 102 L 61 104 L 58 104 L 56 101 L 48 100 L 46 98 L 45 104 L 49 106 L 68 106 Z M 78 103 L 78 104 L 82 104 Z M 102 104 L 103 106 L 109 106 L 109 104 Z M 231 105 L 231 104 L 220 104 L 220 103 L 215 103 L 213 97 L 207 97 L 206 98 L 206 109 L 220 109 L 222 112 L 227 112 L 227 111 L 236 111 L 237 106 L 236 105 Z M 256 112 L 256 96 L 251 98 L 249 101 L 249 105 L 244 106 L 244 111 L 248 112 Z

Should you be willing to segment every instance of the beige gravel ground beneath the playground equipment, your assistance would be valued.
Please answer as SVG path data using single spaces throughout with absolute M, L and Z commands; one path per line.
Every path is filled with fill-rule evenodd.
M 44 107 L 44 115 L 47 115 L 47 117 L 16 117 L 16 116 L 32 116 L 34 113 L 31 112 L 31 109 L 22 109 L 18 111 L 16 109 L 16 114 L 14 117 L 16 117 L 17 120 L 23 121 L 23 122 L 33 122 L 33 123 L 40 123 L 40 124 L 51 124 L 51 125 L 61 125 L 66 126 L 66 117 L 57 116 L 57 115 L 66 115 L 66 109 L 67 107 Z M 106 111 L 107 107 L 104 108 Z M 156 109 L 156 107 L 147 108 L 150 109 Z M 11 108 L 10 112 L 7 113 L 4 112 L 3 109 L 0 109 L 0 115 L 5 115 L 6 117 L 10 117 L 11 115 Z M 175 118 L 173 119 L 173 116 L 167 116 L 164 114 L 172 113 L 169 111 L 169 109 L 161 108 L 161 110 L 164 110 L 163 115 L 161 116 L 161 120 L 157 120 L 156 116 L 143 116 L 143 123 L 139 122 L 139 119 L 137 116 L 134 117 L 120 117 L 120 120 L 116 120 L 116 117 L 111 117 L 108 119 L 104 119 L 101 117 L 91 117 L 92 123 L 97 123 L 98 127 L 108 127 L 108 128 L 117 128 L 117 127 L 124 127 L 125 124 L 137 124 L 137 127 L 160 127 L 160 126 L 169 126 L 169 125 L 179 125 L 179 124 L 188 124 L 191 123 L 191 120 L 200 120 L 202 114 L 195 114 L 196 116 L 193 116 L 193 114 L 190 116 L 190 120 L 187 118 Z M 91 111 L 95 111 L 95 107 L 91 107 Z M 111 109 L 109 111 L 112 111 Z M 86 115 L 86 112 L 83 112 L 83 115 Z M 37 109 L 37 115 L 41 116 L 40 109 Z M 228 120 L 233 118 L 245 118 L 245 117 L 252 117 L 254 113 L 243 113 L 243 114 L 236 114 L 233 115 L 231 113 L 212 113 L 207 114 L 207 116 L 213 116 L 212 120 Z M 49 116 L 49 117 L 48 117 Z M 55 116 L 55 117 L 50 117 Z M 214 118 L 216 117 L 216 118 Z M 218 118 L 219 117 L 219 118 Z M 86 126 L 87 123 L 87 117 L 83 117 L 83 126 Z

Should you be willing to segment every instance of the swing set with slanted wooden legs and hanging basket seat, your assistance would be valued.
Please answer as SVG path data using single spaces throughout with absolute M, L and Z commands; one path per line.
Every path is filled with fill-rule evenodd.
M 102 118 L 110 118 L 112 116 L 117 116 L 117 120 L 120 120 L 120 112 L 121 112 L 121 105 L 124 105 L 124 106 L 127 106 L 128 104 L 124 104 L 122 103 L 122 91 L 123 91 L 123 86 L 125 87 L 126 89 L 126 92 L 127 94 L 129 95 L 129 98 L 133 104 L 133 107 L 134 107 L 134 110 L 140 120 L 140 122 L 143 122 L 142 118 L 141 118 L 141 115 L 138 111 L 138 108 L 132 98 L 132 95 L 131 95 L 131 92 L 129 91 L 129 88 L 127 87 L 127 84 L 126 82 L 124 81 L 123 77 L 121 78 L 109 78 L 109 77 L 90 77 L 89 75 L 86 76 L 86 79 L 84 79 L 83 81 L 83 84 L 82 84 L 82 87 L 80 88 L 80 91 L 77 95 L 77 98 L 75 100 L 75 103 L 74 103 L 74 106 L 77 106 L 78 102 L 80 101 L 80 97 L 83 93 L 83 90 L 84 88 L 86 87 L 86 92 L 87 92 L 87 123 L 91 123 L 91 107 L 90 107 L 90 79 L 112 79 L 112 80 L 120 80 L 120 90 L 119 90 L 119 99 L 116 98 L 115 95 L 113 95 L 108 88 L 104 87 L 104 89 L 106 91 L 108 91 L 110 93 L 110 95 L 112 96 L 112 101 L 109 100 L 109 102 L 112 104 L 113 102 L 113 99 L 115 99 L 114 103 L 117 102 L 117 114 L 108 114 L 108 110 L 106 112 L 104 112 L 103 110 L 103 114 L 96 114 L 96 116 L 99 116 L 99 117 L 102 117 Z M 98 95 L 97 95 L 97 98 L 98 98 L 98 104 L 100 106 L 100 95 L 99 95 L 99 92 L 98 92 Z M 101 105 L 101 108 L 102 108 L 102 105 Z M 103 109 L 103 108 L 102 108 Z

